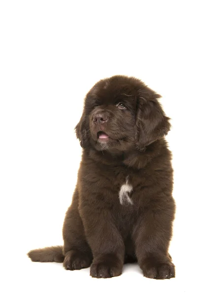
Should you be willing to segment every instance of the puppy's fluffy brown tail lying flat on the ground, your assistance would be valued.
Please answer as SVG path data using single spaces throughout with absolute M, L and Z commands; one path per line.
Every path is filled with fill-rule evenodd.
M 63 246 L 47 247 L 32 250 L 27 254 L 32 261 L 39 262 L 64 262 Z

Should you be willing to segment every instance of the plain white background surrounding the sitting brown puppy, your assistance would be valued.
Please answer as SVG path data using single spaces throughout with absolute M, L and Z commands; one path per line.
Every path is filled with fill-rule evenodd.
M 0 1 L 1 295 L 196 295 L 196 26 L 190 0 Z M 114 74 L 142 79 L 172 118 L 175 279 L 144 278 L 135 264 L 92 279 L 26 256 L 62 244 L 81 155 L 74 127 L 85 94 Z

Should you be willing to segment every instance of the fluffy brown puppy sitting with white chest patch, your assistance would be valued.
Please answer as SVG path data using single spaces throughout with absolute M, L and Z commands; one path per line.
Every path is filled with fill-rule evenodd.
M 175 204 L 170 129 L 160 95 L 140 80 L 100 80 L 85 98 L 76 135 L 83 148 L 78 181 L 63 226 L 64 247 L 29 252 L 33 261 L 91 265 L 92 277 L 122 273 L 138 261 L 144 276 L 175 276 L 168 254 Z

